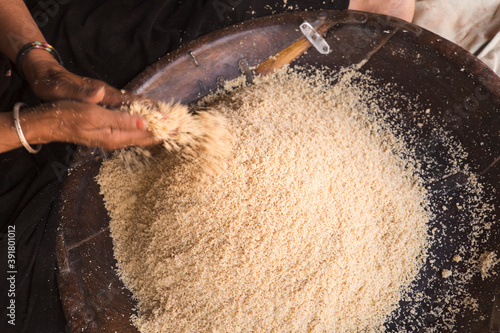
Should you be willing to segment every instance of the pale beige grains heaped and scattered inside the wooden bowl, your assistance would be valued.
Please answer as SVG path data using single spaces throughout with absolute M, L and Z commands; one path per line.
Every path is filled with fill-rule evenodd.
M 432 329 L 449 331 L 464 304 L 477 308 L 460 289 L 469 271 L 438 300 L 412 292 L 426 261 L 431 276 L 452 274 L 428 252 L 429 237 L 438 250 L 445 246 L 447 226 L 427 224 L 424 179 L 467 176 L 462 189 L 475 199 L 464 198 L 459 216 L 476 232 L 459 253 L 470 250 L 464 265 L 471 267 L 478 257 L 488 208 L 460 147 L 444 145 L 441 157 L 453 167 L 432 179 L 420 166 L 433 161 L 414 158 L 412 134 L 402 140 L 391 131 L 375 100 L 379 88 L 352 70 L 330 77 L 287 69 L 226 87 L 233 91 L 197 106 L 220 112 L 231 133 L 217 174 L 201 181 L 199 166 L 222 163 L 222 155 L 186 159 L 156 147 L 143 169 L 132 172 L 115 155 L 98 176 L 141 332 L 380 332 L 395 319 L 397 331 L 417 331 L 425 317 L 411 304 L 419 302 L 442 318 Z M 453 214 L 454 197 L 439 197 L 435 214 Z M 413 307 L 401 313 L 400 301 Z

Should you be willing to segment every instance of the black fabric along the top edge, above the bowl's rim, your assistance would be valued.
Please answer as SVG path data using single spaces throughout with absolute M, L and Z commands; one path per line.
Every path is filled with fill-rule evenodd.
M 71 71 L 122 87 L 147 65 L 203 34 L 297 9 L 345 9 L 346 0 L 29 0 Z M 44 4 L 45 3 L 45 4 Z

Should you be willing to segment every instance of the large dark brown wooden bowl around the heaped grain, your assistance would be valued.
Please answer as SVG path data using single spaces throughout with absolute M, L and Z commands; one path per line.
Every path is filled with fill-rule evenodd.
M 309 48 L 299 30 L 304 21 L 323 33 L 330 54 Z M 462 144 L 468 153 L 466 162 L 483 183 L 489 184 L 488 191 L 496 191 L 496 214 L 500 216 L 500 78 L 457 45 L 404 21 L 356 11 L 300 12 L 255 19 L 186 44 L 147 68 L 126 88 L 153 99 L 192 103 L 241 74 L 251 80 L 255 72 L 268 73 L 286 63 L 326 65 L 336 71 L 361 61 L 366 61 L 361 71 L 370 71 L 382 82 L 396 82 L 398 92 L 432 106 L 438 116 L 429 124 L 422 121 L 422 115 L 405 113 L 404 101 L 389 99 L 389 104 L 402 107 L 403 130 L 424 123 L 420 139 L 423 147 L 435 150 L 434 156 L 439 157 L 442 151 L 430 135 L 432 127 L 448 131 Z M 443 166 L 446 163 L 443 160 Z M 57 244 L 60 295 L 73 332 L 137 332 L 130 322 L 135 303 L 115 272 L 109 218 L 95 182 L 100 164 L 94 150 L 79 148 L 64 183 Z M 443 191 L 454 195 L 466 181 L 461 175 L 441 179 L 440 170 L 432 171 L 438 180 L 426 183 L 434 191 L 435 202 Z M 457 214 L 456 207 L 449 207 L 448 214 L 431 224 L 457 227 Z M 459 231 L 449 235 L 457 240 L 466 236 Z M 487 242 L 480 246 L 491 250 L 499 245 L 500 230 L 494 225 Z M 438 260 L 445 263 L 456 249 L 456 242 L 436 249 L 441 251 Z M 435 274 L 430 269 L 424 273 Z M 438 299 L 450 288 L 444 283 L 429 284 L 430 277 L 425 274 L 420 288 L 428 295 Z M 500 293 L 496 286 L 500 286 L 498 276 L 471 281 L 468 288 L 479 301 L 479 311 L 464 309 L 457 316 L 458 331 L 498 332 Z M 405 306 L 401 304 L 403 315 Z M 419 308 L 420 315 L 426 317 L 418 329 L 439 324 L 440 318 L 428 313 L 431 308 L 432 304 Z M 392 326 L 388 323 L 387 327 L 390 331 Z

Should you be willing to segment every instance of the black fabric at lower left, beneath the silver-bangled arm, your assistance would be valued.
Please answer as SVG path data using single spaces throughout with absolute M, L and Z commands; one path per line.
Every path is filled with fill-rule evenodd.
M 16 149 L 0 155 L 1 332 L 64 332 L 56 285 L 57 210 L 71 146 L 53 143 L 36 155 Z M 7 265 L 9 228 L 15 227 L 15 267 Z M 15 274 L 8 273 L 14 270 Z M 15 278 L 15 326 L 8 323 L 8 276 Z M 10 310 L 8 311 L 8 313 Z M 47 324 L 50 323 L 50 324 Z

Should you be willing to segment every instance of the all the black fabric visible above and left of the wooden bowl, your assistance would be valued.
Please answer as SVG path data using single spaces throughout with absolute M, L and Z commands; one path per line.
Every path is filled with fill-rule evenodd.
M 346 9 L 335 0 L 27 0 L 70 71 L 122 87 L 146 66 L 203 34 L 247 19 L 305 9 Z M 4 61 L 2 62 L 2 59 Z M 0 111 L 40 101 L 0 58 Z M 2 89 L 7 90 L 2 92 Z M 56 284 L 57 198 L 72 145 L 36 155 L 0 154 L 0 332 L 66 332 Z M 7 231 L 15 226 L 16 326 L 8 325 Z M 6 319 L 7 318 L 7 319 Z

